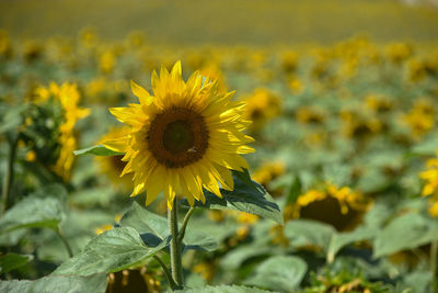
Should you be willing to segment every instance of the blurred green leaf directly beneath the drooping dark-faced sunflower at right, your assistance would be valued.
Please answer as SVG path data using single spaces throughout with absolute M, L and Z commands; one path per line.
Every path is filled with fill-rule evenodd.
M 336 230 L 332 226 L 316 221 L 293 219 L 287 223 L 285 234 L 296 247 L 315 245 L 326 252 Z

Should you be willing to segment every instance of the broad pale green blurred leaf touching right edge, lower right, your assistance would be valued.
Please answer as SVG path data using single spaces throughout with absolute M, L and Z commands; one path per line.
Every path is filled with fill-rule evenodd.
M 405 214 L 393 219 L 377 234 L 373 257 L 413 249 L 436 239 L 438 239 L 438 227 L 434 221 L 419 214 Z

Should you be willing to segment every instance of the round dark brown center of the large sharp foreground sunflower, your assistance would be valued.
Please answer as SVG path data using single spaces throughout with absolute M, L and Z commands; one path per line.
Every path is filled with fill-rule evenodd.
M 204 117 L 185 108 L 157 114 L 147 137 L 153 157 L 168 168 L 183 168 L 203 158 L 208 139 Z

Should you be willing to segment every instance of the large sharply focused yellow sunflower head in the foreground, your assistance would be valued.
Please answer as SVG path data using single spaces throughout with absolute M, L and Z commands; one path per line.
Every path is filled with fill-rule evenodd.
M 180 61 L 171 72 L 152 72 L 153 97 L 134 81 L 131 88 L 139 104 L 110 109 L 129 134 L 104 143 L 126 153 L 122 176 L 134 173 L 131 196 L 146 191 L 149 205 L 163 191 L 172 210 L 176 194 L 193 206 L 205 202 L 203 188 L 219 198 L 219 185 L 232 190 L 230 169 L 249 168 L 241 155 L 254 151 L 245 145 L 254 139 L 242 133 L 251 123 L 242 120 L 245 103 L 197 71 L 185 82 Z

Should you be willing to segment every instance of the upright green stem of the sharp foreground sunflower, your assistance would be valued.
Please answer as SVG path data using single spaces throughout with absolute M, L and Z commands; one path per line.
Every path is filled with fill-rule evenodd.
M 183 261 L 181 256 L 181 244 L 178 243 L 178 225 L 177 225 L 177 202 L 173 201 L 172 211 L 168 211 L 169 230 L 172 235 L 171 240 L 171 268 L 172 277 L 176 285 L 183 286 Z

